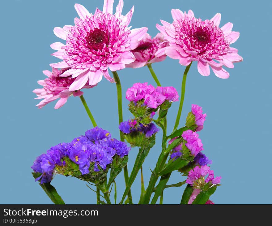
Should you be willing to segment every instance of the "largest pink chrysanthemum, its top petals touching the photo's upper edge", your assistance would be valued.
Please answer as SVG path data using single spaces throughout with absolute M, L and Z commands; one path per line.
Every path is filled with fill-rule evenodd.
M 131 50 L 138 47 L 147 28 L 130 30 L 128 25 L 134 7 L 124 16 L 121 15 L 123 4 L 123 0 L 120 0 L 113 14 L 113 0 L 104 0 L 103 11 L 96 9 L 94 15 L 82 5 L 75 4 L 80 17 L 75 18 L 75 25 L 54 28 L 55 35 L 65 40 L 66 45 L 61 42 L 51 45 L 52 49 L 58 50 L 53 55 L 63 61 L 50 65 L 71 68 L 60 75 L 76 77 L 70 85 L 70 91 L 81 89 L 88 80 L 89 85 L 97 84 L 103 76 L 115 82 L 108 68 L 111 71 L 121 70 L 135 60 Z

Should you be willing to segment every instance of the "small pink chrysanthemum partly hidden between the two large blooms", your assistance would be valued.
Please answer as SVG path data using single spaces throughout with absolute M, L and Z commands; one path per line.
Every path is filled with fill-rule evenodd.
M 126 65 L 126 67 L 138 68 L 146 66 L 149 63 L 165 60 L 165 54 L 156 57 L 155 53 L 166 46 L 168 46 L 168 42 L 164 40 L 161 33 L 158 33 L 154 38 L 151 38 L 149 34 L 146 34 L 145 37 L 139 41 L 139 46 L 131 51 L 136 58 L 135 61 Z

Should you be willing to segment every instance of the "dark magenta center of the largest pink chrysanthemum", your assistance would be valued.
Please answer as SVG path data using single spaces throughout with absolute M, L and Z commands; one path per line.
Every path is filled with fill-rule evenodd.
M 87 32 L 87 37 L 85 37 L 87 42 L 87 47 L 94 50 L 102 50 L 104 44 L 108 45 L 108 35 L 106 32 L 94 28 Z

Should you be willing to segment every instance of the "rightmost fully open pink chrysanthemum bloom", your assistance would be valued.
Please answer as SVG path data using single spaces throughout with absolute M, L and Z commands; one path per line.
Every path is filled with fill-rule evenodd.
M 157 51 L 156 56 L 166 54 L 172 59 L 179 59 L 179 63 L 185 66 L 198 61 L 201 75 L 209 76 L 211 67 L 217 77 L 228 78 L 229 73 L 222 66 L 233 68 L 233 63 L 243 60 L 238 50 L 230 47 L 240 35 L 232 31 L 232 23 L 219 28 L 220 13 L 204 21 L 195 18 L 191 10 L 183 13 L 179 9 L 172 9 L 171 13 L 172 24 L 161 20 L 163 26 L 156 25 L 169 42 L 169 46 Z

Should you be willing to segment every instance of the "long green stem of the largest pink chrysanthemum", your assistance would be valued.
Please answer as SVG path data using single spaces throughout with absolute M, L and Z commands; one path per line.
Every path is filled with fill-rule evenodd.
M 122 87 L 121 87 L 121 82 L 119 79 L 119 76 L 117 72 L 112 72 L 113 73 L 113 78 L 116 82 L 116 88 L 117 88 L 117 104 L 118 104 L 118 117 L 119 117 L 119 124 L 123 121 L 123 110 L 122 110 Z M 125 141 L 123 133 L 120 130 L 120 140 Z M 128 168 L 127 165 L 124 166 L 124 177 L 125 177 L 125 184 L 128 184 L 129 180 L 129 173 L 128 173 Z M 128 198 L 129 198 L 129 203 L 132 204 L 132 196 L 131 196 L 131 191 L 129 190 L 128 193 Z

